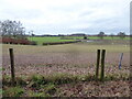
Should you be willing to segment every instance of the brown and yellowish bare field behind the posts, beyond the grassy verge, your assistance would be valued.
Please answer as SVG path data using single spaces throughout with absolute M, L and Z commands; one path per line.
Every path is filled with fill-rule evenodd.
M 94 73 L 95 72 L 94 68 L 96 65 L 97 48 L 107 50 L 106 57 L 107 68 L 111 68 L 113 72 L 116 72 L 114 70 L 116 68 L 118 70 L 118 64 L 121 53 L 124 53 L 122 68 L 129 68 L 130 66 L 129 45 L 87 45 L 87 44 L 66 44 L 56 46 L 3 45 L 3 67 L 7 68 L 6 72 L 9 72 L 8 67 L 10 66 L 8 53 L 9 47 L 14 48 L 15 69 L 22 68 L 23 72 L 25 72 L 25 74 L 30 74 L 30 72 L 47 74 L 52 72 L 64 70 L 66 73 L 77 74 L 81 73 L 87 74 L 89 72 Z M 35 70 L 36 68 L 37 70 Z M 19 74 L 23 73 L 22 70 L 16 72 Z

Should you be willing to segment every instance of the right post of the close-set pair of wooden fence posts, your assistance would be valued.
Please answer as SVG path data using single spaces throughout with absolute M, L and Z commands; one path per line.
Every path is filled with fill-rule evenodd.
M 105 55 L 106 55 L 106 50 L 102 50 L 102 53 L 101 53 L 101 75 L 100 75 L 101 80 L 103 80 L 103 78 L 105 78 Z

